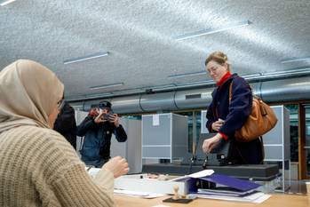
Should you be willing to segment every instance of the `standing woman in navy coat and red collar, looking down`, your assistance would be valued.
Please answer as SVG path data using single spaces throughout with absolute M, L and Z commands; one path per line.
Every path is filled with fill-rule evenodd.
M 222 139 L 230 139 L 231 145 L 227 157 L 230 163 L 262 163 L 264 148 L 260 139 L 250 142 L 238 142 L 234 139 L 234 132 L 242 128 L 250 115 L 253 97 L 250 85 L 241 76 L 230 73 L 227 60 L 227 55 L 223 52 L 213 52 L 205 60 L 207 73 L 217 84 L 208 107 L 206 127 L 210 132 L 217 134 L 203 141 L 203 151 L 209 153 Z M 230 84 L 232 84 L 232 99 L 229 101 Z

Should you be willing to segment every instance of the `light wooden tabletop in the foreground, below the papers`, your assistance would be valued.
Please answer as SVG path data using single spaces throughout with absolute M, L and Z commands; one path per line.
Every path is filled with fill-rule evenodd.
M 122 195 L 115 195 L 115 203 L 119 207 L 147 207 L 155 205 L 166 205 L 166 206 L 187 206 L 187 207 L 199 207 L 199 206 L 210 206 L 210 207 L 242 207 L 242 206 L 259 206 L 259 207 L 309 207 L 308 199 L 306 195 L 284 195 L 284 194 L 273 194 L 269 199 L 263 203 L 242 203 L 242 202 L 228 202 L 213 199 L 202 199 L 197 198 L 191 203 L 163 203 L 163 199 L 171 196 L 159 197 L 155 199 L 144 199 L 136 197 L 128 197 Z

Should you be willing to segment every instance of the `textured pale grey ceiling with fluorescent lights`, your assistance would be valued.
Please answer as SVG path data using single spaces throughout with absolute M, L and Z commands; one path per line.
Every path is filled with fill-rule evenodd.
M 36 60 L 65 84 L 68 99 L 141 92 L 211 80 L 200 72 L 214 51 L 241 76 L 305 68 L 310 59 L 309 0 L 16 0 L 0 6 L 0 68 Z M 206 29 L 249 26 L 176 40 Z M 109 52 L 106 57 L 64 60 Z M 91 90 L 91 86 L 123 83 Z

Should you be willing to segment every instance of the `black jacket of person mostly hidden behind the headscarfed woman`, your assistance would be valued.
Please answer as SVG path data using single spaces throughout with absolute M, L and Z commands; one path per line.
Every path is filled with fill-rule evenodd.
M 76 117 L 75 109 L 67 102 L 57 116 L 54 130 L 60 132 L 68 142 L 76 149 Z

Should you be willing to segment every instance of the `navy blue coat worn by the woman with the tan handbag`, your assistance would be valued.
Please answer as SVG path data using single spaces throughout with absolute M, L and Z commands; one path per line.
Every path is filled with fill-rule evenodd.
M 233 82 L 232 100 L 229 104 L 229 86 Z M 238 142 L 234 139 L 234 132 L 241 129 L 250 115 L 252 107 L 252 92 L 250 85 L 236 74 L 218 86 L 212 92 L 212 102 L 207 111 L 206 127 L 210 132 L 212 123 L 217 120 L 225 120 L 219 132 L 231 139 L 231 157 L 234 163 L 261 163 L 263 159 L 263 146 L 260 139 L 250 142 Z

